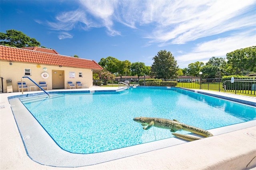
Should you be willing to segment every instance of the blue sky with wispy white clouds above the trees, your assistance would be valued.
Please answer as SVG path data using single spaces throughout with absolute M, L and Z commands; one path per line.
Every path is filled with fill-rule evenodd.
M 18 30 L 61 55 L 180 68 L 256 45 L 256 0 L 1 0 L 0 32 Z

